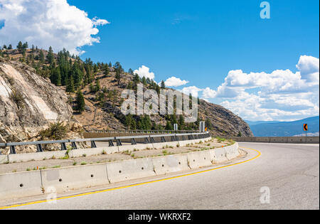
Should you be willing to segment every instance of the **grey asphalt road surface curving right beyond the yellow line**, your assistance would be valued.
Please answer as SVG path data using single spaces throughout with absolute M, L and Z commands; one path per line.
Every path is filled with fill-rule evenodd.
M 319 209 L 319 144 L 240 147 L 235 166 L 11 209 Z

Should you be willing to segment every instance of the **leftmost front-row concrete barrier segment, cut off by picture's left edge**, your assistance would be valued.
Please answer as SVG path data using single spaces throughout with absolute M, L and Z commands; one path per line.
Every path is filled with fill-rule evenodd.
M 14 199 L 42 194 L 41 171 L 0 175 L 0 199 Z

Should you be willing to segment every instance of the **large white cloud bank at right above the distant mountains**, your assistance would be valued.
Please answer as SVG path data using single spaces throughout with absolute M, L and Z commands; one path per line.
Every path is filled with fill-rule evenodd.
M 217 90 L 203 89 L 205 100 L 249 120 L 292 120 L 319 115 L 319 58 L 302 55 L 297 72 L 243 73 L 231 70 Z

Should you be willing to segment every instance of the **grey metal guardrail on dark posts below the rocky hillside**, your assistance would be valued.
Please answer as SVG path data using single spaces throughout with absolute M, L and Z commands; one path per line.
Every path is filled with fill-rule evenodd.
M 122 140 L 129 139 L 131 144 L 137 144 L 136 139 L 144 139 L 144 143 L 156 143 L 154 138 L 160 138 L 161 142 L 166 142 L 165 137 L 171 137 L 171 142 L 176 142 L 181 140 L 193 140 L 193 139 L 203 139 L 210 137 L 209 132 L 193 132 L 193 133 L 181 133 L 181 134 L 157 134 L 157 135 L 140 135 L 140 136 L 128 136 L 128 137 L 107 137 L 107 138 L 93 138 L 93 139 L 65 139 L 57 141 L 39 141 L 39 142 L 8 142 L 0 143 L 0 147 L 10 147 L 10 154 L 16 154 L 16 146 L 28 146 L 36 145 L 37 152 L 42 152 L 43 144 L 61 144 L 61 150 L 67 150 L 66 143 L 71 143 L 72 149 L 78 149 L 77 142 L 91 142 L 92 148 L 97 148 L 95 142 L 109 142 L 109 146 L 114 146 L 114 143 L 117 146 L 122 146 Z

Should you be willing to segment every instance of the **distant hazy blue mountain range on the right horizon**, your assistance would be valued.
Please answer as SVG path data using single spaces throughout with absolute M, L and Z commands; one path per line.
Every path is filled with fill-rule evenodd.
M 303 124 L 308 124 L 308 136 L 319 136 L 319 116 L 308 117 L 294 122 L 250 122 L 255 137 L 292 137 L 305 135 Z

